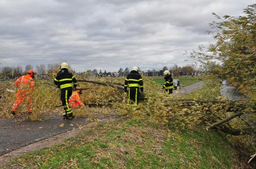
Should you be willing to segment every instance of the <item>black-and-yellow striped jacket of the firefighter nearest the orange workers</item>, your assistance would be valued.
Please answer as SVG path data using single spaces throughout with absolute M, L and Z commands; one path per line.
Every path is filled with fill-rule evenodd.
M 68 70 L 61 70 L 56 75 L 56 78 L 54 78 L 54 84 L 62 89 L 72 87 L 73 85 L 76 87 L 78 83 L 72 73 L 70 73 Z

